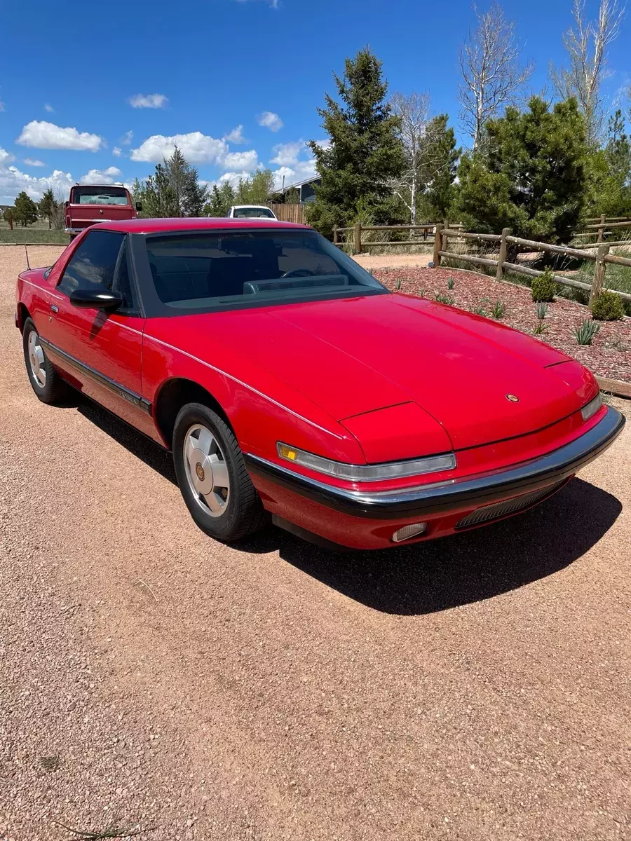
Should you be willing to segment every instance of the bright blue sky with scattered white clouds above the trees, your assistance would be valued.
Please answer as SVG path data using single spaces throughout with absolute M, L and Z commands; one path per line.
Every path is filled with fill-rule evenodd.
M 504 3 L 535 91 L 549 61 L 564 60 L 570 5 Z M 146 177 L 174 137 L 207 182 L 257 166 L 287 183 L 308 177 L 304 141 L 323 139 L 315 108 L 334 92 L 331 71 L 367 44 L 390 92 L 427 90 L 460 133 L 469 0 L 0 0 L 0 19 L 0 204 L 20 189 L 39 198 L 49 185 L 66 195 L 81 179 Z M 610 52 L 611 101 L 631 80 L 630 43 L 631 12 Z

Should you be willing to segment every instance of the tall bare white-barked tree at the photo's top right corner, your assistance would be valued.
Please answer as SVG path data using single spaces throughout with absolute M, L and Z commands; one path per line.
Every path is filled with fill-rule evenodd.
M 587 140 L 593 143 L 602 131 L 602 82 L 607 70 L 607 47 L 618 37 L 625 9 L 618 0 L 601 0 L 596 22 L 586 17 L 585 0 L 574 0 L 574 26 L 563 36 L 570 68 L 550 69 L 559 97 L 575 97 L 585 115 Z

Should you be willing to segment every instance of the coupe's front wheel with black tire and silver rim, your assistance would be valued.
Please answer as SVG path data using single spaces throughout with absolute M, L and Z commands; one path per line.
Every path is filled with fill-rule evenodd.
M 183 406 L 172 448 L 180 492 L 203 532 L 233 542 L 265 525 L 267 512 L 236 437 L 220 415 L 201 403 Z

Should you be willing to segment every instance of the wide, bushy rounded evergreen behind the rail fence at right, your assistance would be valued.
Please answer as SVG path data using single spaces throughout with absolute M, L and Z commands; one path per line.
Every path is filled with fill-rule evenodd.
M 576 100 L 552 111 L 533 97 L 528 111 L 506 108 L 486 124 L 484 151 L 459 166 L 455 212 L 466 230 L 512 229 L 544 242 L 568 242 L 586 202 L 585 121 Z

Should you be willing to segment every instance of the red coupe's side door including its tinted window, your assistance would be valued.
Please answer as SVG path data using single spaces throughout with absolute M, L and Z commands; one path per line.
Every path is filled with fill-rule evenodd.
M 144 319 L 138 309 L 127 235 L 91 230 L 61 272 L 50 299 L 48 352 L 53 362 L 89 397 L 144 429 L 148 403 L 142 399 L 141 355 Z M 78 288 L 119 292 L 115 312 L 71 303 Z

